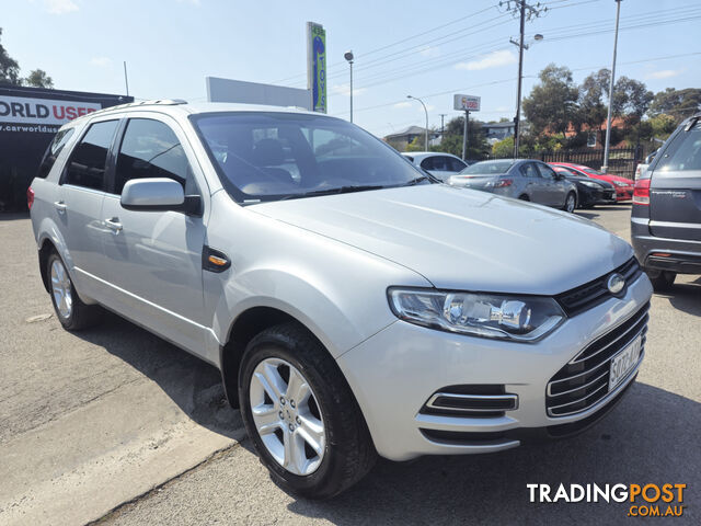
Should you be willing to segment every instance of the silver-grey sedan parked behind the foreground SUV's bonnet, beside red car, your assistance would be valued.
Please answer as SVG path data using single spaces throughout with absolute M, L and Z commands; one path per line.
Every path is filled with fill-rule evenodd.
M 521 201 L 574 211 L 577 207 L 577 187 L 564 175 L 541 161 L 528 159 L 499 159 L 475 162 L 448 184 L 482 190 Z

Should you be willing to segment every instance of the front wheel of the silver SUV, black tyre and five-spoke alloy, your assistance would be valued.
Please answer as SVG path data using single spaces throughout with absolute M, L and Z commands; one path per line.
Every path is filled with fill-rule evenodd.
M 297 323 L 267 329 L 249 343 L 239 400 L 262 464 L 286 490 L 329 499 L 375 464 L 350 388 L 329 352 Z

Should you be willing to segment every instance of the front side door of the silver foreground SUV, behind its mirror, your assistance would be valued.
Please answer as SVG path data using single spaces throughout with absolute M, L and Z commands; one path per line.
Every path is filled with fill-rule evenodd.
M 119 202 L 127 181 L 145 178 L 173 179 L 185 195 L 204 197 L 206 183 L 194 151 L 177 123 L 149 113 L 126 121 L 115 150 L 114 178 L 102 214 L 116 225 L 103 237 L 114 288 L 111 307 L 174 343 L 199 351 L 207 325 L 204 215 L 127 210 Z

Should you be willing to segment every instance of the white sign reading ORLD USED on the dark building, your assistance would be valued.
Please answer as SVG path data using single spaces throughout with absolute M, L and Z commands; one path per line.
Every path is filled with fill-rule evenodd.
M 102 110 L 94 102 L 27 99 L 0 94 L 0 123 L 62 125 Z

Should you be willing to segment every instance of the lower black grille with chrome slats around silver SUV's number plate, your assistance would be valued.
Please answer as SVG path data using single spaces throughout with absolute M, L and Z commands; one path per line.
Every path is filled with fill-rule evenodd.
M 639 335 L 642 335 L 639 362 L 643 358 L 648 309 L 650 304 L 646 304 L 616 329 L 595 340 L 550 379 L 545 392 L 549 416 L 579 413 L 606 398 L 611 358 Z

